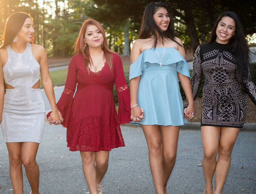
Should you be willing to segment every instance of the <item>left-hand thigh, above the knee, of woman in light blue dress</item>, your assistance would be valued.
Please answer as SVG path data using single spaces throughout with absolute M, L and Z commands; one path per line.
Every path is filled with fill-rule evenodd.
M 160 126 L 155 126 L 155 125 L 141 125 L 141 126 L 148 144 L 148 148 L 151 145 L 159 145 L 162 143 Z

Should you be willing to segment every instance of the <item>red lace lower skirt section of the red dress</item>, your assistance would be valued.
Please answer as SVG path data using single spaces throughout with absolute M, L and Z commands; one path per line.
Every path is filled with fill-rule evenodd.
M 125 146 L 121 128 L 112 115 L 110 123 L 102 117 L 70 118 L 67 127 L 67 147 L 70 151 L 110 151 Z

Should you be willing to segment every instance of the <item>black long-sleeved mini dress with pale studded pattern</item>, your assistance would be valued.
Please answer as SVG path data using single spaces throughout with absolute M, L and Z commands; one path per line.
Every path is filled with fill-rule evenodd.
M 246 94 L 236 79 L 236 60 L 227 44 L 202 44 L 195 51 L 191 86 L 198 93 L 204 75 L 201 126 L 242 128 L 247 111 Z M 250 73 L 243 78 L 246 93 L 256 105 L 256 86 Z M 186 100 L 185 106 L 188 106 Z

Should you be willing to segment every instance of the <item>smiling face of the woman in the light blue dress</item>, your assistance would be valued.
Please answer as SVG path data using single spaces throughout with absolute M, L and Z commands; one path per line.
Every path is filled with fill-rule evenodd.
M 159 9 L 157 9 L 157 11 L 153 15 L 153 18 L 157 26 L 159 26 L 162 31 L 167 30 L 170 23 L 170 17 L 168 11 L 165 8 L 160 7 Z

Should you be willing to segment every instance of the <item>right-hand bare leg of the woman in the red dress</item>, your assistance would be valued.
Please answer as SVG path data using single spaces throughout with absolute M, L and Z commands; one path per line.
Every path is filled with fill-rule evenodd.
M 108 170 L 109 151 L 97 151 L 95 152 L 95 156 L 97 184 L 99 184 Z

